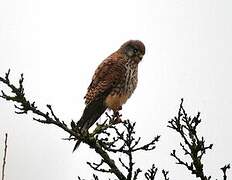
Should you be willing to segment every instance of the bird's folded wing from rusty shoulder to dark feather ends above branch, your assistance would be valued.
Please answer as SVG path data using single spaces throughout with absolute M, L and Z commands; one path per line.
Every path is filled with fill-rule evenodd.
M 123 80 L 126 69 L 120 59 L 112 57 L 104 60 L 95 71 L 85 96 L 86 107 L 77 122 L 79 129 L 89 129 L 98 120 L 107 108 L 106 97 Z

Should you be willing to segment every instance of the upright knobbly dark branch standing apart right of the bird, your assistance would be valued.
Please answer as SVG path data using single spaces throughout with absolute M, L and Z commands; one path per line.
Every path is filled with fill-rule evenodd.
M 201 159 L 207 149 L 212 149 L 213 144 L 206 146 L 204 137 L 199 138 L 197 134 L 197 126 L 201 123 L 200 113 L 193 118 L 188 116 L 183 107 L 183 99 L 181 99 L 178 115 L 168 123 L 168 127 L 175 130 L 182 137 L 184 144 L 180 143 L 180 146 L 184 151 L 184 155 L 189 156 L 192 161 L 188 163 L 181 160 L 176 155 L 176 150 L 173 150 L 171 156 L 177 160 L 177 164 L 185 166 L 196 177 L 201 178 L 201 180 L 209 180 L 211 176 L 207 177 L 205 175 Z

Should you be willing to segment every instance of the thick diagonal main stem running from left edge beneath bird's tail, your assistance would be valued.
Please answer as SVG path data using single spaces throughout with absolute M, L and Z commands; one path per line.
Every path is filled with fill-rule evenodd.
M 18 110 L 16 112 L 17 114 L 27 114 L 27 112 L 31 111 L 33 115 L 38 116 L 38 118 L 34 117 L 33 120 L 43 124 L 53 124 L 55 126 L 58 126 L 59 128 L 66 131 L 71 137 L 82 140 L 102 157 L 102 159 L 109 165 L 112 173 L 114 173 L 119 179 L 126 180 L 126 177 L 118 169 L 114 161 L 109 157 L 108 153 L 102 149 L 99 141 L 94 137 L 97 133 L 102 132 L 103 129 L 106 129 L 107 127 L 104 126 L 100 130 L 95 130 L 93 134 L 89 134 L 88 132 L 84 133 L 84 135 L 80 134 L 72 127 L 69 128 L 64 123 L 64 121 L 59 120 L 59 118 L 54 114 L 54 111 L 52 110 L 52 107 L 50 105 L 47 105 L 49 112 L 43 112 L 35 106 L 35 102 L 31 103 L 29 100 L 27 100 L 23 88 L 23 75 L 21 75 L 21 78 L 19 79 L 19 87 L 16 87 L 15 85 L 11 84 L 9 80 L 9 74 L 10 70 L 5 74 L 5 78 L 0 77 L 0 82 L 7 85 L 11 89 L 13 95 L 7 95 L 5 92 L 2 91 L 2 95 L 0 97 L 7 101 L 13 101 L 19 104 L 15 105 L 15 108 Z

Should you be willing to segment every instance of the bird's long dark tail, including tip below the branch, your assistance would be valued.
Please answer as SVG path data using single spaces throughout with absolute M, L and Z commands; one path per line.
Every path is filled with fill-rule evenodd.
M 106 108 L 103 98 L 99 98 L 86 105 L 80 120 L 77 122 L 77 127 L 80 131 L 88 130 L 105 112 Z M 81 140 L 77 140 L 73 152 L 79 147 L 80 143 Z

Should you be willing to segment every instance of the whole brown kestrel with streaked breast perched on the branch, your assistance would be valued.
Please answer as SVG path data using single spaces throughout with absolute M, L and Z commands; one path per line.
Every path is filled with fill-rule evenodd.
M 137 86 L 138 64 L 144 54 L 141 41 L 129 40 L 98 66 L 84 97 L 86 107 L 76 124 L 79 130 L 88 130 L 107 108 L 114 113 L 122 108 Z M 77 140 L 73 151 L 80 143 Z

